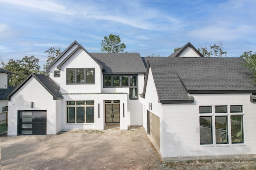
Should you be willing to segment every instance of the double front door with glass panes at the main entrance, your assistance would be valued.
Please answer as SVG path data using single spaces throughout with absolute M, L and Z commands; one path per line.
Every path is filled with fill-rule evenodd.
M 120 123 L 120 105 L 105 104 L 106 123 Z

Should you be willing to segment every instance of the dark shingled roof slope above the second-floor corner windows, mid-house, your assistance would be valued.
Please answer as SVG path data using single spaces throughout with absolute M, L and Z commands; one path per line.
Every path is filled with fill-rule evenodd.
M 90 53 L 103 67 L 104 73 L 145 73 L 146 68 L 139 53 Z

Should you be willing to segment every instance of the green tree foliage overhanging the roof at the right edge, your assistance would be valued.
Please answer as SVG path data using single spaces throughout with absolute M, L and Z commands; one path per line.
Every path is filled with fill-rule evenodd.
M 244 66 L 253 72 L 252 77 L 256 81 L 256 52 L 244 51 L 240 57 L 244 58 Z

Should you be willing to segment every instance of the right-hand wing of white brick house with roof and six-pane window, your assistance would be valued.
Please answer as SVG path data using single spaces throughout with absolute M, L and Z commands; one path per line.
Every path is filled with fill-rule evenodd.
M 148 58 L 142 94 L 162 159 L 256 154 L 256 85 L 244 59 L 177 56 Z

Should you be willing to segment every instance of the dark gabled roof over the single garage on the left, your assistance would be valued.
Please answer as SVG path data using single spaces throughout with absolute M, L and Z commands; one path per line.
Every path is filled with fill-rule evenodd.
M 53 100 L 63 99 L 63 96 L 60 94 L 60 87 L 57 86 L 50 77 L 30 73 L 8 96 L 6 96 L 5 100 L 10 100 L 12 95 L 15 94 L 31 77 L 34 77 L 53 96 Z

